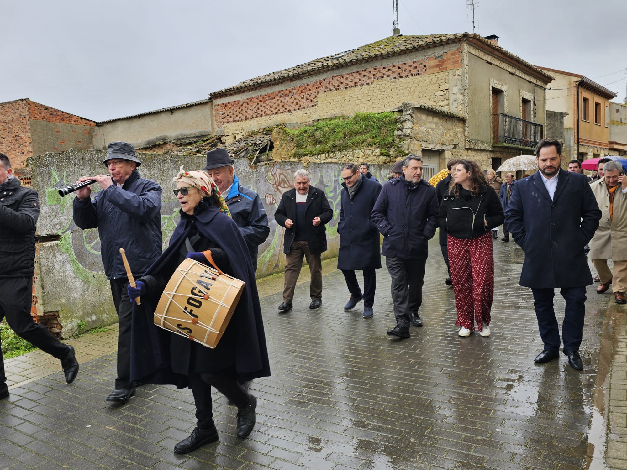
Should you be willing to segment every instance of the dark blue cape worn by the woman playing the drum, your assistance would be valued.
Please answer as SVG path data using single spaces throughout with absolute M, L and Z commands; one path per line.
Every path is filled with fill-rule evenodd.
M 190 219 L 181 219 L 170 239 L 169 247 L 157 258 L 145 275 L 169 279 L 180 264 L 181 246 L 191 227 Z M 255 271 L 246 242 L 233 220 L 211 206 L 196 214 L 196 227 L 224 250 L 231 263 L 234 278 L 246 283 L 227 330 L 236 330 L 235 370 L 240 382 L 270 375 L 261 306 L 255 282 Z M 133 304 L 130 345 L 130 379 L 149 384 L 172 384 L 187 387 L 187 376 L 172 370 L 171 342 L 176 333 L 154 324 L 154 311 L 161 293 L 142 296 L 142 304 Z M 233 333 L 231 331 L 231 333 Z M 218 347 L 214 351 L 218 351 Z M 176 348 L 175 348 L 176 350 Z

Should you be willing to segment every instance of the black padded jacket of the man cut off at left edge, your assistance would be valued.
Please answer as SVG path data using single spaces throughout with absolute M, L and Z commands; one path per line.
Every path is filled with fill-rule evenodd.
M 37 192 L 19 179 L 0 185 L 0 278 L 33 276 L 39 212 Z

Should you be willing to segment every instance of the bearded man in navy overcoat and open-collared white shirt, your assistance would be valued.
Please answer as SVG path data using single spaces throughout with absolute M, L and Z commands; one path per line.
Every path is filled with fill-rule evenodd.
M 584 175 L 560 169 L 562 145 L 541 140 L 535 147 L 539 171 L 512 186 L 505 222 L 525 252 L 520 285 L 534 294 L 544 349 L 535 362 L 559 357 L 559 326 L 553 310 L 555 289 L 566 301 L 562 338 L 569 364 L 582 370 L 586 286 L 593 283 L 584 246 L 599 226 L 601 211 Z

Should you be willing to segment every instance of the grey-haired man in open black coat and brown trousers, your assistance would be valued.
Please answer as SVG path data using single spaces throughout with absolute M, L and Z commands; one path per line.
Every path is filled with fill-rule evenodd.
M 285 282 L 283 303 L 278 310 L 292 310 L 292 298 L 303 267 L 303 256 L 307 259 L 311 279 L 309 308 L 322 305 L 322 261 L 320 254 L 327 251 L 326 224 L 333 218 L 333 209 L 322 189 L 310 185 L 307 170 L 294 174 L 294 189 L 283 193 L 275 212 L 275 221 L 285 227 L 283 253 L 285 253 Z

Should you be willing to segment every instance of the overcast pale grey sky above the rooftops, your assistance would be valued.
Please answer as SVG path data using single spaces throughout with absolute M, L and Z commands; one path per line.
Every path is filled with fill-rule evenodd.
M 399 0 L 403 34 L 472 31 L 469 15 L 466 0 Z M 393 0 L 0 0 L 0 18 L 0 102 L 100 121 L 390 36 Z M 515 55 L 623 102 L 626 0 L 480 0 L 475 19 Z

